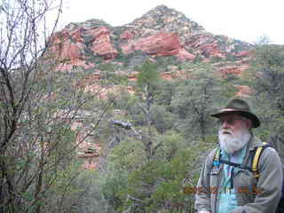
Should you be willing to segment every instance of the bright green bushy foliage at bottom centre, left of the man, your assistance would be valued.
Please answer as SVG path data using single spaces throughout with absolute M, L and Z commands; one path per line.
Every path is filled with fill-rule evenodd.
M 120 212 L 126 209 L 130 212 L 155 212 L 158 209 L 165 212 L 183 212 L 188 209 L 188 212 L 191 212 L 189 205 L 193 205 L 193 196 L 182 193 L 183 180 L 187 177 L 187 185 L 196 184 L 198 173 L 188 171 L 199 165 L 199 154 L 196 151 L 208 149 L 212 144 L 210 140 L 206 146 L 205 142 L 196 142 L 195 146 L 189 148 L 185 138 L 173 131 L 157 135 L 155 140 L 162 141 L 162 146 L 154 159 L 138 161 L 133 158 L 134 162 L 138 161 L 140 164 L 135 163 L 137 166 L 128 170 L 127 185 L 121 188 L 120 193 L 116 193 L 119 201 L 122 201 L 116 209 Z M 133 146 L 133 142 L 116 146 L 113 150 L 116 157 L 110 159 L 110 163 L 117 165 L 117 169 L 126 171 L 125 162 L 121 162 L 120 159 L 136 155 L 133 153 L 136 152 Z M 198 146 L 201 147 L 196 149 Z M 128 152 L 129 149 L 132 152 Z M 118 150 L 124 150 L 124 153 L 117 154 Z

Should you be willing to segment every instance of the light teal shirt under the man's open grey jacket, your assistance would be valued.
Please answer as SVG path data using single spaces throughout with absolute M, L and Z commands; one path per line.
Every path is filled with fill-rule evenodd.
M 242 148 L 239 152 L 230 155 L 221 150 L 222 159 L 229 162 L 241 163 L 245 157 L 247 146 Z M 224 175 L 221 182 L 221 189 L 218 193 L 218 213 L 229 213 L 238 207 L 236 194 L 233 189 L 233 174 L 238 172 L 239 168 L 224 164 Z

